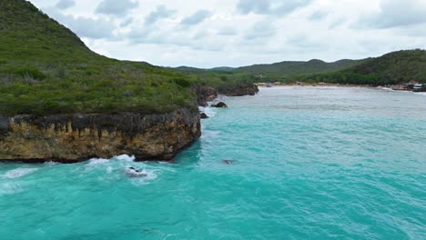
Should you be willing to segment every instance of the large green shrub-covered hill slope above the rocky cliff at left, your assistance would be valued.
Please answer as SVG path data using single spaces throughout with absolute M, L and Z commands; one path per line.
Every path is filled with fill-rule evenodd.
M 175 70 L 90 51 L 24 0 L 0 0 L 0 115 L 161 113 L 195 107 Z

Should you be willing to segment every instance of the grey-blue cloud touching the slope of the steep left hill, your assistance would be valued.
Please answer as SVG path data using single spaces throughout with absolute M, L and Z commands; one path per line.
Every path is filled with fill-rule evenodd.
M 73 32 L 76 33 L 76 35 L 80 37 L 87 37 L 92 39 L 114 39 L 113 32 L 116 28 L 116 25 L 110 21 L 107 21 L 106 19 L 63 15 L 54 7 L 44 8 L 43 11 L 56 19 L 56 21 L 69 27 Z

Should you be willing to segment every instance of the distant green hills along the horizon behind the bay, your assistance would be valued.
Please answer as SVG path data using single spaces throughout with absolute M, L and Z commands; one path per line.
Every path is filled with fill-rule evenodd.
M 256 82 L 289 84 L 298 81 L 351 85 L 396 85 L 411 80 L 426 83 L 426 51 L 405 50 L 376 58 L 340 60 L 334 63 L 310 60 L 238 68 L 198 69 L 182 66 L 177 70 L 208 79 L 208 83 L 217 85 Z

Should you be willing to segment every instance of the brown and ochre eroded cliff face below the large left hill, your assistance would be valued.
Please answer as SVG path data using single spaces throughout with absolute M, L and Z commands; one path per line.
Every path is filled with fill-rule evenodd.
M 141 115 L 0 116 L 0 160 L 75 163 L 135 155 L 171 160 L 201 135 L 197 111 Z

